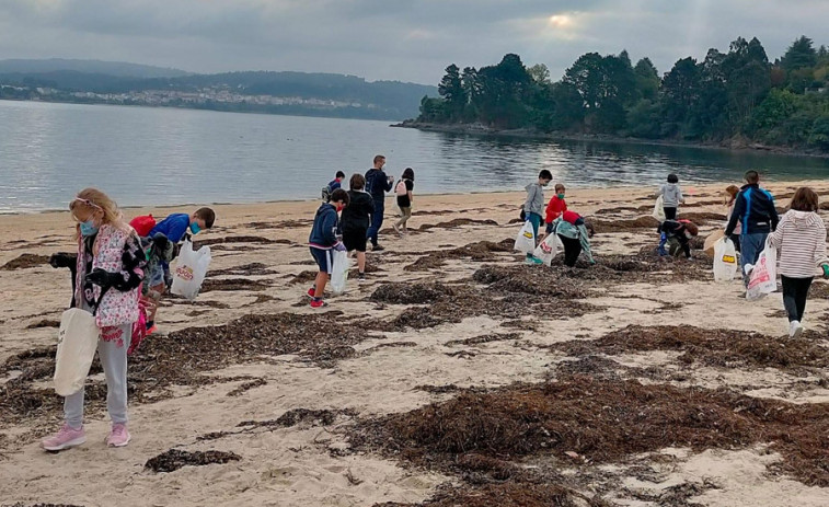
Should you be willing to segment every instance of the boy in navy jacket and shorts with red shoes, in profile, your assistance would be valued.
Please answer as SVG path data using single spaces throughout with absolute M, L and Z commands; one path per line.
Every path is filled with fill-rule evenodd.
M 308 291 L 308 296 L 311 297 L 311 308 L 322 308 L 326 303 L 322 300 L 322 295 L 325 292 L 325 284 L 329 281 L 329 274 L 331 273 L 331 251 L 339 250 L 345 251 L 338 231 L 337 214 L 348 206 L 348 193 L 342 188 L 331 193 L 331 201 L 323 203 L 320 209 L 316 210 L 314 216 L 313 228 L 311 229 L 311 235 L 308 238 L 308 243 L 311 246 L 311 256 L 316 261 L 316 265 L 320 266 L 320 272 L 316 274 L 316 284 Z

